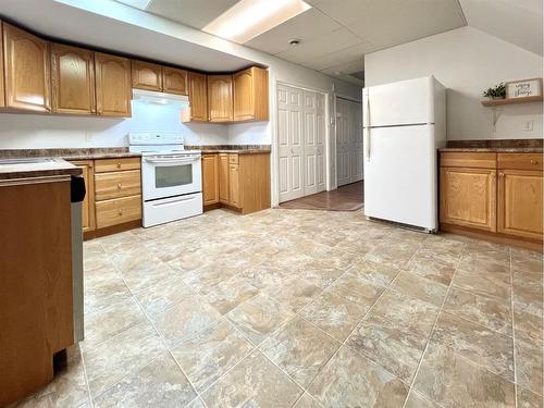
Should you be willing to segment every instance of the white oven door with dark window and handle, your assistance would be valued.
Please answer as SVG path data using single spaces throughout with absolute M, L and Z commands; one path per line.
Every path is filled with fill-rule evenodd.
M 161 154 L 141 158 L 144 200 L 199 193 L 200 154 Z

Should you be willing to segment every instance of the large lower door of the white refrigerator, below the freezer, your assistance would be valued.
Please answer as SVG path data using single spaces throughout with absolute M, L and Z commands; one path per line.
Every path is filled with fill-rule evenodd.
M 434 125 L 370 129 L 364 214 L 426 230 L 437 227 Z

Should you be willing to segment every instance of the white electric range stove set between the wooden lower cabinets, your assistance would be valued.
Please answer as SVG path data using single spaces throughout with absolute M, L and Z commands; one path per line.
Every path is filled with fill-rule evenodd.
M 202 213 L 201 154 L 185 150 L 183 135 L 134 132 L 129 150 L 141 153 L 145 227 Z

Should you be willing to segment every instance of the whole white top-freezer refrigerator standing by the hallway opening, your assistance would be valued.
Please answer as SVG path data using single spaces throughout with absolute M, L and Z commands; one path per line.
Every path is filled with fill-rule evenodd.
M 446 89 L 433 76 L 362 90 L 364 214 L 435 232 Z

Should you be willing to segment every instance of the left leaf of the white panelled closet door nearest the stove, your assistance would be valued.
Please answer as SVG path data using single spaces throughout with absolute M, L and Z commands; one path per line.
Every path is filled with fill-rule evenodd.
M 304 91 L 277 86 L 280 202 L 305 195 Z

